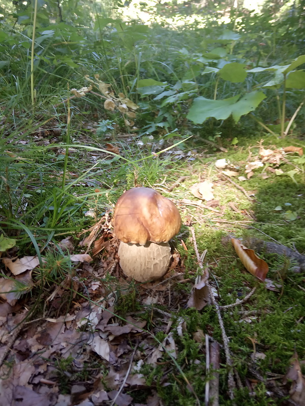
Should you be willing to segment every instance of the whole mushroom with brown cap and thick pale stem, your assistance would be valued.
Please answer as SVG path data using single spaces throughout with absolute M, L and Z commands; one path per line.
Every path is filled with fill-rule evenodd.
M 166 274 L 171 259 L 168 241 L 181 226 L 171 200 L 147 187 L 129 189 L 117 200 L 113 226 L 121 241 L 119 264 L 126 276 L 147 282 Z

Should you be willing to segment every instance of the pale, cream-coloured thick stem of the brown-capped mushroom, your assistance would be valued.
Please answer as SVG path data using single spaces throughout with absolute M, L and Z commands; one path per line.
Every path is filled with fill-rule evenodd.
M 171 259 L 168 243 L 148 242 L 139 245 L 121 242 L 117 253 L 124 274 L 138 282 L 154 281 L 163 277 Z

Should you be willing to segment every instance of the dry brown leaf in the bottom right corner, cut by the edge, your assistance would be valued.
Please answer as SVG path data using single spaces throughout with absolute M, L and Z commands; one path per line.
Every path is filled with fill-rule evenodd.
M 290 387 L 290 398 L 299 406 L 305 404 L 305 379 L 302 376 L 298 355 L 295 352 L 290 359 L 290 368 L 285 376 L 284 383 L 292 381 Z

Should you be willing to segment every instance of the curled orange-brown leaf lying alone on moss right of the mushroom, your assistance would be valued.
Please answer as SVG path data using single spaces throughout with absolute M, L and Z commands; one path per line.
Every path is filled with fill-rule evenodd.
M 243 246 L 239 240 L 232 238 L 231 242 L 239 259 L 243 265 L 245 265 L 246 269 L 249 270 L 250 274 L 254 275 L 260 281 L 264 281 L 269 270 L 267 263 L 259 258 L 253 250 Z

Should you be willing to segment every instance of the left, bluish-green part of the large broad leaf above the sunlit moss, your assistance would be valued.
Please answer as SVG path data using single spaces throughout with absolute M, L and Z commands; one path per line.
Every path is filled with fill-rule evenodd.
M 190 108 L 187 118 L 194 123 L 202 124 L 207 118 L 215 117 L 217 120 L 225 120 L 232 113 L 232 105 L 236 103 L 240 95 L 224 100 L 210 100 L 205 97 L 197 97 Z

